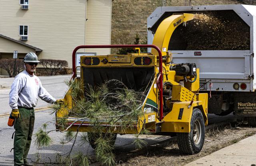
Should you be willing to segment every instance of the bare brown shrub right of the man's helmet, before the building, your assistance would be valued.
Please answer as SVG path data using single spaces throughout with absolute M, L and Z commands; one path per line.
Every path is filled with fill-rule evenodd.
M 62 68 L 68 67 L 68 62 L 64 60 L 55 59 L 40 59 L 44 70 L 49 76 L 56 75 Z

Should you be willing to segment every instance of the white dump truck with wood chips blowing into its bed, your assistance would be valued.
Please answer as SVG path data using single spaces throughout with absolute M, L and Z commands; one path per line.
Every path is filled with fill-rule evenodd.
M 147 20 L 148 44 L 159 24 L 176 13 L 192 13 L 194 21 L 176 28 L 169 47 L 160 49 L 172 53 L 174 64 L 200 68 L 200 92 L 209 94 L 208 113 L 234 112 L 256 126 L 256 6 L 158 7 Z

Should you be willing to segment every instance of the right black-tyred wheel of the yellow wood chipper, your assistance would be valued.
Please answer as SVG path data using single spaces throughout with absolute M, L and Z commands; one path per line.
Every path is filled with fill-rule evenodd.
M 180 152 L 184 154 L 196 154 L 204 145 L 204 117 L 200 109 L 195 108 L 190 121 L 190 133 L 177 133 L 177 141 Z

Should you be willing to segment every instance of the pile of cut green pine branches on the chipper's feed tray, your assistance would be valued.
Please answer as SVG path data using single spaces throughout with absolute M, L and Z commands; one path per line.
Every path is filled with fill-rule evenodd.
M 69 166 L 87 166 L 90 164 L 88 150 L 86 153 L 77 152 L 71 155 L 72 149 L 76 143 L 78 129 L 84 121 L 90 121 L 92 131 L 80 135 L 80 145 L 88 144 L 95 149 L 95 156 L 98 162 L 103 165 L 112 166 L 116 164 L 114 155 L 115 133 L 125 133 L 127 130 L 133 130 L 134 124 L 138 123 L 138 117 L 143 115 L 142 102 L 145 98 L 146 90 L 135 92 L 128 89 L 118 80 L 110 80 L 98 87 L 83 87 L 82 81 L 68 83 L 71 88 L 70 95 L 73 100 L 73 107 L 68 109 L 68 104 L 52 105 L 52 113 L 56 113 L 61 107 L 68 109 L 69 114 L 66 117 L 57 119 L 60 132 L 65 132 L 65 137 L 60 141 L 62 144 L 73 142 L 72 148 L 66 154 L 57 154 L 59 163 L 66 163 Z M 81 88 L 83 87 L 83 88 Z M 68 117 L 76 117 L 77 120 L 67 126 Z M 108 127 L 102 127 L 101 123 L 109 124 Z M 77 132 L 69 131 L 74 123 L 81 122 Z M 36 145 L 40 148 L 48 146 L 52 140 L 48 136 L 51 131 L 46 131 L 47 125 L 43 125 L 36 133 Z M 52 130 L 55 131 L 55 130 Z M 147 134 L 143 130 L 140 134 Z M 139 139 L 136 135 L 134 141 L 136 148 L 142 148 L 146 145 L 145 141 Z M 88 147 L 89 148 L 89 147 Z M 64 157 L 64 159 L 63 159 Z

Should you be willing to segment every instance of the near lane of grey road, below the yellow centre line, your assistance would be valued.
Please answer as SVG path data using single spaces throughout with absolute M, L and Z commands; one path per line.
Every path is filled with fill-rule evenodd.
M 47 121 L 54 121 L 54 115 L 49 114 L 49 110 L 45 111 L 38 111 L 35 113 L 35 126 L 34 126 L 34 134 L 38 130 L 38 128 L 41 127 L 43 123 L 46 123 Z M 7 125 L 8 117 L 0 117 L 0 166 L 12 166 L 14 164 L 13 162 L 13 151 L 10 152 L 10 150 L 13 148 L 13 139 L 12 133 L 14 132 L 13 127 L 9 127 Z M 55 126 L 53 124 L 50 124 L 48 126 L 47 130 L 55 129 Z M 52 162 L 55 161 L 55 154 L 56 152 L 65 154 L 68 152 L 72 146 L 72 142 L 68 143 L 66 145 L 61 145 L 60 139 L 64 137 L 63 133 L 60 132 L 52 132 L 50 133 L 50 137 L 53 139 L 53 143 L 51 146 L 47 148 L 38 149 L 34 145 L 35 138 L 32 137 L 32 144 L 31 148 L 28 154 L 29 160 L 35 161 L 36 160 L 36 154 L 39 152 L 42 161 L 44 162 Z M 159 136 L 159 135 L 143 135 L 141 137 L 145 141 L 148 142 L 148 145 L 156 144 L 161 141 L 166 141 L 167 139 L 170 139 L 169 136 Z M 80 138 L 78 138 L 78 142 L 74 146 L 74 152 L 77 151 L 83 151 L 86 153 L 88 149 L 88 154 L 90 156 L 94 155 L 94 150 L 89 147 L 88 143 L 80 146 L 79 145 Z M 134 141 L 134 135 L 118 135 L 115 143 L 116 151 L 127 151 L 134 150 L 135 146 L 132 144 Z M 50 158 L 50 159 L 49 159 Z

